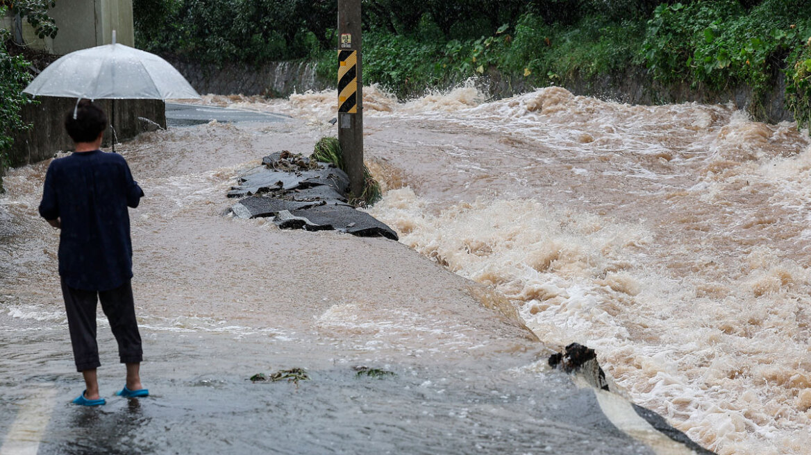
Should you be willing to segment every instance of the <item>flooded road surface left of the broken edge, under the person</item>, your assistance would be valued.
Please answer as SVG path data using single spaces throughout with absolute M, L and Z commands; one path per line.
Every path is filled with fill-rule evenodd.
M 627 403 L 617 413 L 611 396 L 551 370 L 507 300 L 408 246 L 224 216 L 239 171 L 310 151 L 328 127 L 211 122 L 117 147 L 147 193 L 131 224 L 151 396 L 113 396 L 123 371 L 99 313 L 108 404 L 97 409 L 70 403 L 82 383 L 58 232 L 36 215 L 48 163 L 11 170 L 0 453 L 689 453 L 638 416 L 620 431 L 616 419 L 634 422 Z M 395 375 L 358 377 L 360 366 Z M 289 368 L 311 379 L 248 380 Z

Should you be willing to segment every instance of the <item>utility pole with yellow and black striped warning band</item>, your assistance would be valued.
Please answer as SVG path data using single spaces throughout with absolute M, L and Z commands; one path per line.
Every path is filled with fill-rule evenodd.
M 338 0 L 338 142 L 354 198 L 363 176 L 363 78 L 361 75 L 361 0 Z

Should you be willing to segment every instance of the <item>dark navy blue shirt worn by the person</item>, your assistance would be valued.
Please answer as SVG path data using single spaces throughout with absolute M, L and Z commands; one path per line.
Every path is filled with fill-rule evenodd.
M 51 162 L 40 215 L 62 220 L 59 274 L 68 286 L 107 291 L 132 278 L 127 206 L 142 196 L 121 155 L 83 151 Z

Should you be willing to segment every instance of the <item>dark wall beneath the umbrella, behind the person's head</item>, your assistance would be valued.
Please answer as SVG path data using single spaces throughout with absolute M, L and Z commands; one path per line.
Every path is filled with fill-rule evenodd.
M 12 167 L 49 159 L 57 151 L 73 148 L 71 138 L 65 132 L 65 116 L 76 104 L 75 98 L 54 96 L 37 97 L 39 104 L 23 108 L 23 121 L 32 128 L 15 134 L 14 146 L 9 151 Z M 113 100 L 95 101 L 112 120 Z M 115 100 L 115 131 L 118 142 L 135 138 L 141 132 L 155 130 L 158 125 L 166 128 L 165 104 L 161 100 Z M 111 130 L 105 132 L 104 146 L 109 147 Z

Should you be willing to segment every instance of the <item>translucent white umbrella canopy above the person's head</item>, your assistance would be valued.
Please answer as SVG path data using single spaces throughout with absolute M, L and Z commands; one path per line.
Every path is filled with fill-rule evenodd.
M 77 50 L 42 70 L 24 92 L 89 100 L 200 98 L 161 57 L 125 45 Z

